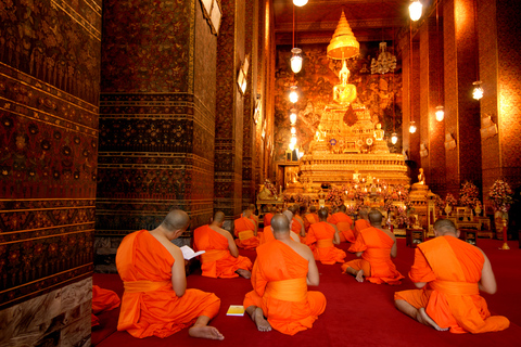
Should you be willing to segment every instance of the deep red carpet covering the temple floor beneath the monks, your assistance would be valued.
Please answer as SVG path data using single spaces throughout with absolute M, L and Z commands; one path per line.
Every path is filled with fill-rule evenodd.
M 318 287 L 327 299 L 326 312 L 318 318 L 312 330 L 287 336 L 279 332 L 260 333 L 247 316 L 227 317 L 230 305 L 242 305 L 244 294 L 251 291 L 249 280 L 207 279 L 199 273 L 188 277 L 188 286 L 214 292 L 221 299 L 219 314 L 212 321 L 224 335 L 224 342 L 191 338 L 183 330 L 168 338 L 134 338 L 126 332 L 116 332 L 118 309 L 100 317 L 101 327 L 92 331 L 92 345 L 109 346 L 519 346 L 521 339 L 521 249 L 517 242 L 510 242 L 510 250 L 497 249 L 501 241 L 482 240 L 478 245 L 491 259 L 498 292 L 486 295 L 488 309 L 493 314 L 506 316 L 510 327 L 504 332 L 479 335 L 436 332 L 421 325 L 394 308 L 393 294 L 396 291 L 414 288 L 407 278 L 399 286 L 357 283 L 353 277 L 342 274 L 340 264 L 323 266 L 318 262 L 321 273 Z M 341 248 L 346 249 L 347 244 Z M 254 252 L 241 250 L 241 255 L 253 258 Z M 347 260 L 355 256 L 347 255 Z M 398 270 L 406 275 L 412 265 L 414 249 L 398 240 Z M 253 260 L 253 259 L 252 259 Z M 94 284 L 123 294 L 118 275 L 94 274 Z M 315 290 L 315 288 L 312 288 Z

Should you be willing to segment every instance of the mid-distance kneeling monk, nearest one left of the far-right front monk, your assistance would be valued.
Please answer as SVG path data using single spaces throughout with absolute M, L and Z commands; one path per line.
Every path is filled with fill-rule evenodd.
M 401 284 L 404 278 L 391 260 L 396 258 L 396 237 L 382 229 L 382 214 L 378 209 L 369 211 L 370 228 L 364 229 L 350 252 L 356 252 L 361 259 L 351 260 L 342 265 L 342 271 L 356 277 L 358 282 L 364 282 L 364 277 L 372 283 Z

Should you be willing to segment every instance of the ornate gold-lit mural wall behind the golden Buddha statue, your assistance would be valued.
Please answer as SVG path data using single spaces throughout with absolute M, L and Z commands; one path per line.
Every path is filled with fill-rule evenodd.
M 350 69 L 348 82 L 356 86 L 357 102 L 363 103 L 371 112 L 373 121 L 382 124 L 385 136 L 402 131 L 402 68 L 396 67 L 394 74 L 371 74 L 371 59 L 378 55 L 379 42 L 361 42 L 360 55 L 347 61 Z M 333 101 L 333 87 L 340 82 L 340 61 L 331 61 L 326 54 L 327 44 L 304 46 L 303 69 L 295 75 L 300 99 L 296 104 L 289 101 L 288 94 L 293 85 L 293 73 L 289 67 L 290 48 L 279 50 L 276 72 L 275 99 L 275 155 L 276 160 L 283 160 L 291 138 L 289 114 L 292 107 L 298 112 L 296 121 L 297 146 L 304 152 L 309 147 L 322 111 Z M 391 50 L 391 49 L 389 49 Z M 295 106 L 293 106 L 295 105 Z M 394 116 L 393 116 L 394 114 Z M 354 123 L 355 115 L 347 112 L 346 124 Z M 401 140 L 393 145 L 389 140 L 391 152 L 401 152 Z

